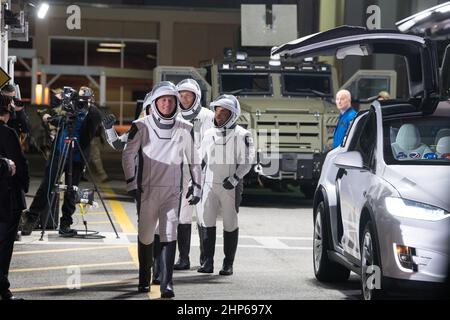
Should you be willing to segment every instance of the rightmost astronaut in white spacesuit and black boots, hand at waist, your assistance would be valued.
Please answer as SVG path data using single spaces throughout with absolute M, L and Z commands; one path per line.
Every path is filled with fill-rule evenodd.
M 251 133 L 236 125 L 241 108 L 235 96 L 221 95 L 210 106 L 215 113 L 214 127 L 205 132 L 201 149 L 205 172 L 199 219 L 204 261 L 197 271 L 214 272 L 216 220 L 221 214 L 225 259 L 219 274 L 231 275 L 238 244 L 242 179 L 254 163 L 255 148 Z

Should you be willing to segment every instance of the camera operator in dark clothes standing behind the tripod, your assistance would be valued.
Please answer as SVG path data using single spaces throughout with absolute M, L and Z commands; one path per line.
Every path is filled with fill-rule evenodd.
M 52 154 L 47 162 L 44 179 L 39 186 L 38 191 L 31 203 L 29 210 L 22 215 L 22 235 L 30 235 L 35 227 L 39 215 L 47 212 L 48 207 L 54 207 L 50 204 L 53 185 L 58 171 L 58 163 L 62 157 L 65 140 L 68 136 L 74 137 L 79 142 L 75 143 L 72 151 L 72 161 L 67 158 L 64 172 L 66 179 L 68 177 L 69 165 L 72 165 L 72 185 L 78 186 L 85 163 L 83 153 L 86 159 L 89 158 L 89 147 L 92 138 L 98 127 L 101 125 L 101 115 L 99 110 L 92 104 L 93 91 L 89 87 L 81 87 L 77 93 L 69 87 L 64 88 L 62 107 L 65 114 L 62 116 L 48 119 L 48 121 L 59 127 L 57 137 L 53 143 Z M 56 181 L 57 182 L 57 181 Z M 65 237 L 76 235 L 76 231 L 71 229 L 73 223 L 72 215 L 75 212 L 75 192 L 73 189 L 66 190 L 64 193 L 64 203 L 62 206 L 62 217 L 60 219 L 59 234 Z M 45 227 L 45 226 L 44 226 Z

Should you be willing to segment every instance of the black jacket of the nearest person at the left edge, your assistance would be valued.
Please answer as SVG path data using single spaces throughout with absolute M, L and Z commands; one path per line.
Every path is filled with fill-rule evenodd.
M 0 219 L 4 219 L 8 214 L 26 208 L 25 193 L 28 192 L 30 177 L 17 133 L 3 121 L 0 121 L 0 157 L 8 158 L 16 165 L 14 176 L 0 180 Z

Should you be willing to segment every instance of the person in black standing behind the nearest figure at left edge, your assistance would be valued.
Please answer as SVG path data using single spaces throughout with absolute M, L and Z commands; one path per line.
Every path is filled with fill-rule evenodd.
M 12 98 L 11 106 L 13 107 L 13 113 L 11 114 L 10 120 L 8 121 L 8 126 L 16 131 L 17 135 L 19 136 L 22 150 L 26 150 L 26 139 L 30 133 L 30 125 L 28 117 L 25 113 L 25 106 L 17 96 L 17 89 L 14 85 L 4 85 L 2 87 L 1 93 L 4 96 Z

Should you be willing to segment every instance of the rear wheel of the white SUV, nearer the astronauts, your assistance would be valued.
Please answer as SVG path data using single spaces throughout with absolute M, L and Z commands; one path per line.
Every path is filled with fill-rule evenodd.
M 313 261 L 314 274 L 319 281 L 342 282 L 348 280 L 350 270 L 328 258 L 328 233 L 325 221 L 325 204 L 319 203 L 314 218 Z

